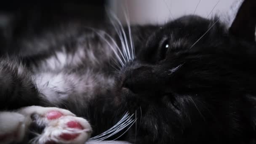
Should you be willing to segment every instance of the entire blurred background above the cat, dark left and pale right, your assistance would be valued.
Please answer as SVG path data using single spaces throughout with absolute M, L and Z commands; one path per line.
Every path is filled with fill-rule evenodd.
M 106 8 L 131 24 L 161 24 L 183 14 L 207 17 L 228 11 L 235 0 L 62 0 L 62 3 L 16 1 L 0 5 L 0 45 L 17 37 L 37 35 L 44 29 L 70 22 L 103 23 Z

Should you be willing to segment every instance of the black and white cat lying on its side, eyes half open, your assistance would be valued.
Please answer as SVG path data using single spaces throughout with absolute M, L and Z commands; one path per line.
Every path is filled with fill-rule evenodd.
M 189 15 L 20 40 L 0 61 L 0 122 L 26 122 L 11 142 L 255 144 L 255 9 L 244 0 L 230 24 Z

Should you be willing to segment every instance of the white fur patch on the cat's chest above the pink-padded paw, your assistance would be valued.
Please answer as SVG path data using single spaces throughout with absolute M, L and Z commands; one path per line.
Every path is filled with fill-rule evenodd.
M 104 77 L 104 75 L 90 70 L 84 71 L 83 75 L 65 72 L 43 72 L 34 77 L 40 93 L 53 104 L 61 103 L 61 100 L 67 100 L 72 95 L 76 95 L 80 101 L 83 101 L 83 97 L 88 101 L 93 96 L 94 88 L 99 83 L 102 83 L 102 87 L 105 83 L 109 83 L 108 85 L 114 83 L 112 78 Z

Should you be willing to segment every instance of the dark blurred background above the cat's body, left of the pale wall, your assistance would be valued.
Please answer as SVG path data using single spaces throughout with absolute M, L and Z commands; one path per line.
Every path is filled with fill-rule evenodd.
M 53 0 L 54 1 L 54 0 Z M 22 3 L 23 2 L 23 3 Z M 25 35 L 37 35 L 45 29 L 66 23 L 101 23 L 105 20 L 107 0 L 62 0 L 7 2 L 0 4 L 0 46 Z

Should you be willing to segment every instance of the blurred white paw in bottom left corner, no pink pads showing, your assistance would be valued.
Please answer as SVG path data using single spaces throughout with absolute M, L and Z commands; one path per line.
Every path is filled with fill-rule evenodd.
M 0 144 L 22 141 L 25 131 L 23 115 L 16 112 L 0 112 Z

